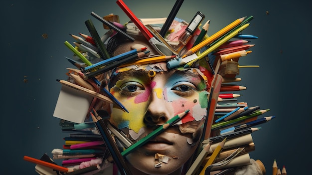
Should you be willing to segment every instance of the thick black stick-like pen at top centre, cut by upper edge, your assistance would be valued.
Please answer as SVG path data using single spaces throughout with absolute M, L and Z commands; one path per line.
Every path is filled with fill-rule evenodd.
M 167 33 L 168 29 L 170 28 L 170 25 L 174 19 L 174 17 L 176 16 L 177 12 L 179 11 L 182 3 L 184 0 L 176 0 L 166 21 L 164 22 L 164 24 L 162 25 L 159 34 L 161 35 L 161 37 L 164 38 L 165 34 Z

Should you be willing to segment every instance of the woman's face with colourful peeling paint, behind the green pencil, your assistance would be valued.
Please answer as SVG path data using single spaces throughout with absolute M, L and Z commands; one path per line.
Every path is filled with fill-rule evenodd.
M 181 168 L 196 150 L 202 133 L 208 106 L 205 76 L 195 68 L 166 70 L 165 63 L 119 69 L 113 74 L 110 92 L 129 113 L 113 108 L 110 122 L 132 140 L 140 140 L 156 126 L 189 110 L 181 121 L 126 157 L 134 168 L 150 175 Z M 155 168 L 157 153 L 169 161 Z

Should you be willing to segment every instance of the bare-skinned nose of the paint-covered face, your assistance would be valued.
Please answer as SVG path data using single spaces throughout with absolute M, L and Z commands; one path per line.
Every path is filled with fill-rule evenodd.
M 170 102 L 163 98 L 163 94 L 157 95 L 152 92 L 151 102 L 145 114 L 144 120 L 147 126 L 162 125 L 169 120 L 171 112 L 173 111 Z

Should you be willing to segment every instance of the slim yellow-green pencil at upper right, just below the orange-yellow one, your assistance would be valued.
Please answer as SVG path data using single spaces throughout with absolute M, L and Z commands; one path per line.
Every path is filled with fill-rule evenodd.
M 249 26 L 249 23 L 242 25 L 241 27 L 239 27 L 238 29 L 236 29 L 235 31 L 233 31 L 232 33 L 226 35 L 223 39 L 221 39 L 220 41 L 218 41 L 217 43 L 215 43 L 214 45 L 210 46 L 207 50 L 203 51 L 202 53 L 200 53 L 198 55 L 198 58 L 195 60 L 192 60 L 188 63 L 186 63 L 184 65 L 184 68 L 188 68 L 190 67 L 192 64 L 194 64 L 195 62 L 197 62 L 199 59 L 203 58 L 205 55 L 207 55 L 208 53 L 212 52 L 213 50 L 215 50 L 216 48 L 218 48 L 221 44 L 225 43 L 226 41 L 228 41 L 229 39 L 231 39 L 232 37 L 234 37 L 237 33 L 240 33 L 241 31 L 243 31 L 244 29 L 246 29 Z M 207 38 L 208 39 L 208 38 Z M 197 44 L 199 45 L 199 44 Z M 197 46 L 196 45 L 196 46 Z M 195 47 L 196 47 L 195 46 Z M 193 47 L 192 47 L 193 48 Z

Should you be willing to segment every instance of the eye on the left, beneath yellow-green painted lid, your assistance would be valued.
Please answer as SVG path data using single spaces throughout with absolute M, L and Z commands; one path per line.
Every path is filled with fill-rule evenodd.
M 138 82 L 124 83 L 120 88 L 120 93 L 126 96 L 135 96 L 145 90 L 144 86 Z

